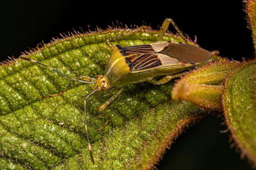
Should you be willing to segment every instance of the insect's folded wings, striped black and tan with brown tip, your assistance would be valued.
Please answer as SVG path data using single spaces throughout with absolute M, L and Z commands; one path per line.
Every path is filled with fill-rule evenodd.
M 190 44 L 156 42 L 121 48 L 126 53 L 126 62 L 130 67 L 130 71 L 198 64 L 211 57 L 209 51 Z

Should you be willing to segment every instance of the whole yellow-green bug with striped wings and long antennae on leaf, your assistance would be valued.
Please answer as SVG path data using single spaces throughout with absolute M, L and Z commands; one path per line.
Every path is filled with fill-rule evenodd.
M 162 38 L 166 33 L 170 22 L 180 34 L 181 38 L 184 40 L 184 43 L 162 41 Z M 92 155 L 92 147 L 89 140 L 88 127 L 86 122 L 86 101 L 91 95 L 96 92 L 107 91 L 113 87 L 121 87 L 114 96 L 110 97 L 110 99 L 108 99 L 99 107 L 99 112 L 101 112 L 115 98 L 117 98 L 122 91 L 124 91 L 124 88 L 122 87 L 123 85 L 144 81 L 156 85 L 164 84 L 169 82 L 171 79 L 182 75 L 182 73 L 175 73 L 191 68 L 208 60 L 211 57 L 211 53 L 209 51 L 204 50 L 199 46 L 188 44 L 185 36 L 182 34 L 180 29 L 178 29 L 177 25 L 173 22 L 173 20 L 168 18 L 166 18 L 162 24 L 161 30 L 159 31 L 157 37 L 157 42 L 137 46 L 112 46 L 112 44 L 110 44 L 110 41 L 115 38 L 136 33 L 141 29 L 143 29 L 143 27 L 139 27 L 130 33 L 124 33 L 106 40 L 106 44 L 112 52 L 105 69 L 105 75 L 97 75 L 96 78 L 88 76 L 73 78 L 38 61 L 20 57 L 20 59 L 27 60 L 29 62 L 36 62 L 52 71 L 73 79 L 73 82 L 70 83 L 63 91 L 59 92 L 58 94 L 48 95 L 45 97 L 55 97 L 62 95 L 70 86 L 72 86 L 72 84 L 74 84 L 74 82 L 94 84 L 94 90 L 84 99 L 85 131 L 88 141 L 88 150 L 90 152 L 90 157 L 93 164 L 95 163 Z M 155 76 L 157 75 L 165 75 L 165 77 L 157 81 L 155 79 Z M 99 128 L 98 132 L 106 126 L 109 119 L 101 128 Z

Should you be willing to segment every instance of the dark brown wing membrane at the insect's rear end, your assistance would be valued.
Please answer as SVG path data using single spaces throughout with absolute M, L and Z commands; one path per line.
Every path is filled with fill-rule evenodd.
M 211 57 L 209 51 L 190 44 L 170 44 L 158 53 L 186 63 L 201 63 Z

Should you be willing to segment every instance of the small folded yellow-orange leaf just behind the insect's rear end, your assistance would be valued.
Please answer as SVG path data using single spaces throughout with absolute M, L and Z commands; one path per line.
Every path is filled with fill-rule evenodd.
M 175 84 L 172 99 L 184 99 L 203 108 L 222 110 L 223 82 L 240 62 L 209 62 L 185 75 Z

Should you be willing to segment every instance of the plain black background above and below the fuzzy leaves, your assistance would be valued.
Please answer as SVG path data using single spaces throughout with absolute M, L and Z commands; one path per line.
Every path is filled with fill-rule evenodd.
M 165 18 L 172 18 L 192 39 L 196 35 L 205 49 L 219 50 L 229 59 L 252 58 L 244 5 L 240 0 L 0 2 L 0 59 L 18 57 L 28 47 L 34 48 L 42 40 L 47 43 L 73 28 L 105 29 L 118 20 L 127 25 L 146 22 L 156 29 Z M 172 26 L 169 30 L 175 31 Z M 239 153 L 230 149 L 229 133 L 219 132 L 226 129 L 223 121 L 221 116 L 212 117 L 182 133 L 159 163 L 159 170 L 249 170 L 247 160 L 240 160 Z

